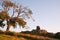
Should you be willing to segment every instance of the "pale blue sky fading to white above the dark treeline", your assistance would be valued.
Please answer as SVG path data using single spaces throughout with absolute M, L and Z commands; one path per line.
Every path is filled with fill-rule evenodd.
M 35 21 L 27 20 L 28 29 L 11 27 L 10 30 L 32 30 L 39 25 L 48 32 L 60 32 L 60 0 L 13 0 L 13 2 L 28 6 L 33 12 L 32 17 Z

